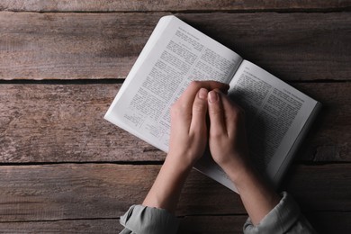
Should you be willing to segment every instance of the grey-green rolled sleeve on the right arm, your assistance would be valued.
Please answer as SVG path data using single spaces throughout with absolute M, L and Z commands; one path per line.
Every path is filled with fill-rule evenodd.
M 283 198 L 275 208 L 266 214 L 257 226 L 250 218 L 244 224 L 245 234 L 254 233 L 317 233 L 306 218 L 300 207 L 288 193 L 283 192 Z

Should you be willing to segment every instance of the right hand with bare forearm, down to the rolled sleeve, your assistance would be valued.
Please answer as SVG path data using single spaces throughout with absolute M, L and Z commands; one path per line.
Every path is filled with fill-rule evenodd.
M 249 217 L 257 225 L 280 197 L 249 162 L 244 112 L 220 92 L 211 91 L 208 99 L 211 155 L 238 188 Z

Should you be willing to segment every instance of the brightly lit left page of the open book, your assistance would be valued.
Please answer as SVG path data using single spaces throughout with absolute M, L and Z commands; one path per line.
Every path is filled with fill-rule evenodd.
M 193 80 L 229 84 L 242 58 L 201 31 L 165 16 L 130 70 L 105 119 L 168 151 L 170 106 Z

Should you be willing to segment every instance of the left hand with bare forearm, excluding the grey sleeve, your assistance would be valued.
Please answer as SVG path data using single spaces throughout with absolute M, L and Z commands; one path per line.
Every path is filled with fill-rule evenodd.
M 185 179 L 207 145 L 208 90 L 228 88 L 214 81 L 192 82 L 172 106 L 169 152 L 143 205 L 175 211 Z

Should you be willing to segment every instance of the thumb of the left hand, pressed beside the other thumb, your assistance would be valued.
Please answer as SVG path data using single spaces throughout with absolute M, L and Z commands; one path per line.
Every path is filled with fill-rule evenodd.
M 207 94 L 207 89 L 201 88 L 193 101 L 193 114 L 190 130 L 193 130 L 194 132 L 206 131 Z

